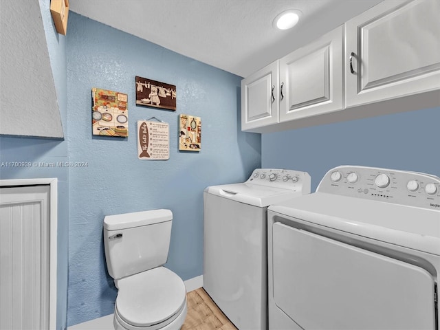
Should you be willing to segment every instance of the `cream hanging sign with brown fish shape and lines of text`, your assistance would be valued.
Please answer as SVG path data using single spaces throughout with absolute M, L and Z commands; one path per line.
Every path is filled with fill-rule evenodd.
M 137 121 L 137 158 L 166 160 L 170 158 L 170 129 L 166 122 Z

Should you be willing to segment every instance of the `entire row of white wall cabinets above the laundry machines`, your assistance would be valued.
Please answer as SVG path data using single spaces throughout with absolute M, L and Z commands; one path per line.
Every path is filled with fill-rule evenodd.
M 440 0 L 382 1 L 245 78 L 241 97 L 258 133 L 440 107 Z

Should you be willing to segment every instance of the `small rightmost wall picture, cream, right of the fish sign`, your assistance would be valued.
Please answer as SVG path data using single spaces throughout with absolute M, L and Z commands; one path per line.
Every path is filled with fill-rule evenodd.
M 179 150 L 200 151 L 201 119 L 194 115 L 179 115 Z

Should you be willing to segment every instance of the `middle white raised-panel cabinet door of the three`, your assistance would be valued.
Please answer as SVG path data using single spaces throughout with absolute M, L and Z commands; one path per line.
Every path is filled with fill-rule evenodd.
M 280 60 L 280 122 L 341 110 L 343 26 Z

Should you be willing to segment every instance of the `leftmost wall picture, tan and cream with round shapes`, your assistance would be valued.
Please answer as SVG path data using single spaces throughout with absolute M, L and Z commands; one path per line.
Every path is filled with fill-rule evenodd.
M 91 126 L 93 135 L 129 136 L 127 94 L 107 89 L 91 89 Z

